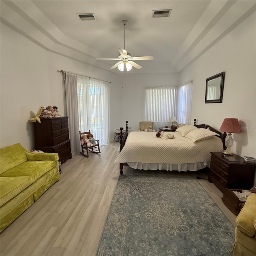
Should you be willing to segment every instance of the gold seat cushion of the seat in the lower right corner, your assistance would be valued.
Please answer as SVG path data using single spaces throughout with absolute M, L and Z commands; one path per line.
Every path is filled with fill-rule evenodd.
M 236 227 L 248 236 L 255 236 L 254 218 L 256 217 L 256 194 L 248 196 L 244 207 L 236 218 Z

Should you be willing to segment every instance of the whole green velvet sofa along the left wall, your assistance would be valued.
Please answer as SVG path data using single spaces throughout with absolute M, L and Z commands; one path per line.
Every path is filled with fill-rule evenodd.
M 33 153 L 20 143 L 0 149 L 0 232 L 60 179 L 58 154 Z

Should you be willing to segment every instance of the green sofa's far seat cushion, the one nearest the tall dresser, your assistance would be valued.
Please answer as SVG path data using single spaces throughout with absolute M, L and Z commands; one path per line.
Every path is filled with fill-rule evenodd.
M 27 161 L 4 172 L 1 177 L 29 176 L 33 183 L 54 167 L 54 161 Z

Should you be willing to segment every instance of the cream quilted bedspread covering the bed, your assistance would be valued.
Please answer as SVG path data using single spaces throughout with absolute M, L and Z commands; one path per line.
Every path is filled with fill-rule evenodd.
M 223 150 L 222 140 L 217 136 L 208 140 L 192 142 L 180 132 L 172 132 L 173 139 L 162 140 L 155 132 L 130 132 L 124 148 L 115 163 L 162 163 L 182 164 L 210 162 L 210 152 Z

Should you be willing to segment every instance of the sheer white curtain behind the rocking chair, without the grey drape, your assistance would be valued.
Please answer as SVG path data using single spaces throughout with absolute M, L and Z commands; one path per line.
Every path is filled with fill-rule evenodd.
M 88 130 L 100 145 L 109 143 L 109 83 L 86 76 L 77 77 L 80 131 Z

